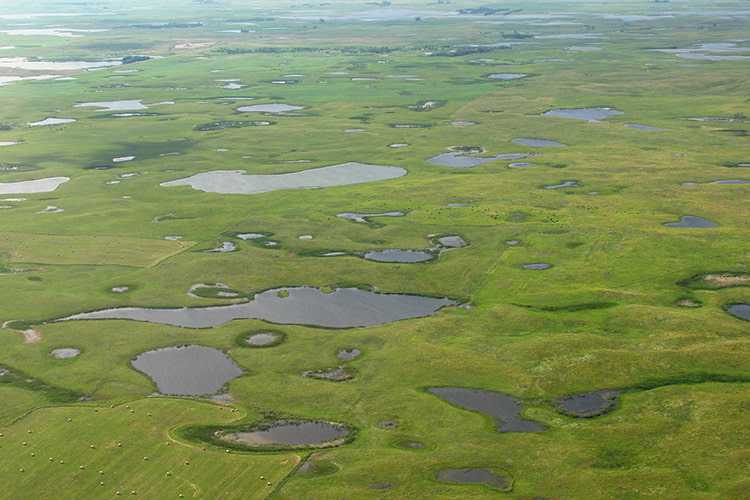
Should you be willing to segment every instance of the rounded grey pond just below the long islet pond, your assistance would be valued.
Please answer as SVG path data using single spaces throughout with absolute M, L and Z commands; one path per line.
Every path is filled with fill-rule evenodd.
M 200 345 L 147 351 L 136 356 L 131 365 L 153 380 L 160 393 L 179 396 L 215 394 L 242 375 L 229 356 Z

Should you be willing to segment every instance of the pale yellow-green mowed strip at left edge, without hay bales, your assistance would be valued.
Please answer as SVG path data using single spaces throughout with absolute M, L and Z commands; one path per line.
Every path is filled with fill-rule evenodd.
M 0 233 L 0 252 L 16 263 L 150 267 L 191 245 L 151 238 Z

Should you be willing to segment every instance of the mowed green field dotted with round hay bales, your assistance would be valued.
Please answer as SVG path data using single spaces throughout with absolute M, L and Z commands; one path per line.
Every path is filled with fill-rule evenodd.
M 59 499 L 95 499 L 119 491 L 139 498 L 263 498 L 299 456 L 204 451 L 170 437 L 175 425 L 237 415 L 176 399 L 35 411 L 2 429 L 2 496 L 47 498 L 54 491 Z

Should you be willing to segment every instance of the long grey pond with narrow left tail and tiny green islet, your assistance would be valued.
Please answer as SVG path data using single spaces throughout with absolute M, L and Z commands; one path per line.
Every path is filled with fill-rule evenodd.
M 297 287 L 266 290 L 242 304 L 180 309 L 122 307 L 74 314 L 59 321 L 131 319 L 210 328 L 234 319 L 262 319 L 272 323 L 353 328 L 430 316 L 441 307 L 455 304 L 447 298 L 375 293 L 358 288 L 337 288 L 332 293 L 324 293 L 317 288 Z

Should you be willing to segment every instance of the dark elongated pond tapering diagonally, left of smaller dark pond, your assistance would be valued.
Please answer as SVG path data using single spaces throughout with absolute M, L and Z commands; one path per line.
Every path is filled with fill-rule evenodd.
M 430 393 L 467 410 L 490 415 L 497 421 L 499 432 L 539 432 L 546 429 L 542 424 L 520 416 L 521 400 L 499 392 L 465 387 L 432 387 Z

